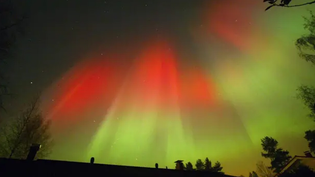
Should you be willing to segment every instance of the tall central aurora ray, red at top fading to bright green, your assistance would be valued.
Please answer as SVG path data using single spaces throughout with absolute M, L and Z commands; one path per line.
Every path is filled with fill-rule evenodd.
M 135 64 L 122 91 L 91 142 L 89 157 L 124 165 L 174 160 L 185 153 L 189 135 L 181 124 L 178 72 L 168 48 L 154 46 Z M 171 154 L 171 155 L 170 155 Z

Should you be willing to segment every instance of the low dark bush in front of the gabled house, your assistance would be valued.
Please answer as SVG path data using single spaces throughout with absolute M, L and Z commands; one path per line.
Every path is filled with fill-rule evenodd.
M 315 172 L 308 166 L 300 164 L 298 167 L 293 168 L 290 171 L 287 171 L 283 174 L 280 174 L 278 177 L 314 177 Z

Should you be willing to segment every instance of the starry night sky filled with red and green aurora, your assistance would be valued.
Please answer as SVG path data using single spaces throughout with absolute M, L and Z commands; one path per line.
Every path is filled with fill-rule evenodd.
M 4 69 L 14 96 L 1 116 L 40 94 L 53 122 L 49 159 L 173 168 L 209 157 L 226 174 L 246 175 L 264 160 L 264 136 L 292 156 L 307 150 L 314 123 L 295 89 L 315 83 L 315 71 L 294 42 L 314 7 L 18 1 L 29 19 Z

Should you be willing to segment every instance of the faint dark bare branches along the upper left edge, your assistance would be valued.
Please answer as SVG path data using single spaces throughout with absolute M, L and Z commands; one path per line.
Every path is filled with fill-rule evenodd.
M 16 34 L 22 31 L 22 21 L 26 15 L 20 15 L 14 11 L 14 5 L 10 0 L 0 0 L 0 68 L 9 58 L 15 42 Z M 7 81 L 0 70 L 0 109 L 3 106 L 3 97 L 9 94 Z

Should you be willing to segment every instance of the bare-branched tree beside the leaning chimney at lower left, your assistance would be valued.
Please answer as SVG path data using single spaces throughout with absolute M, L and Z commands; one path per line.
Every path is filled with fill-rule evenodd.
M 53 145 L 49 133 L 50 121 L 38 111 L 38 104 L 38 98 L 34 99 L 19 117 L 1 128 L 0 156 L 26 159 L 32 143 L 42 145 L 35 158 L 49 155 Z

